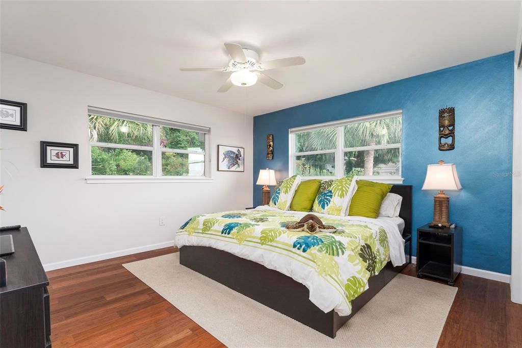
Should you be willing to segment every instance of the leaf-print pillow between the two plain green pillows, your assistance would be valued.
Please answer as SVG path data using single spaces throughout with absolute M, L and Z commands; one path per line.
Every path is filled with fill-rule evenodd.
M 323 180 L 317 192 L 312 211 L 329 215 L 344 216 L 352 197 L 355 180 L 342 177 Z

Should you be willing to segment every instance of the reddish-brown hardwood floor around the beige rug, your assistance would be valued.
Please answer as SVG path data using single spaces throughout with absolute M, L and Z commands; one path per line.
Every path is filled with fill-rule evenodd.
M 223 346 L 122 264 L 165 248 L 48 272 L 54 348 Z M 415 275 L 413 265 L 403 273 Z M 440 347 L 522 347 L 522 305 L 509 285 L 461 274 Z M 422 333 L 419 333 L 422 334 Z

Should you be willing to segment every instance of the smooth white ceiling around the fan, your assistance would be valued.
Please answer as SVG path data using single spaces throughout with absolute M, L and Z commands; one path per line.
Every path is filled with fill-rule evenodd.
M 0 2 L 2 52 L 258 115 L 511 51 L 511 2 Z M 224 42 L 306 64 L 216 90 Z

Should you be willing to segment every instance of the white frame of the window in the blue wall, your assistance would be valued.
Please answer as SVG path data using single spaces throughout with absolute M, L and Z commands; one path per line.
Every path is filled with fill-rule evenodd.
M 367 122 L 380 120 L 391 117 L 401 117 L 402 118 L 402 110 L 394 110 L 382 113 L 376 113 L 372 115 L 360 116 L 360 117 L 352 117 L 345 120 L 333 121 L 333 122 L 325 122 L 312 124 L 303 127 L 295 127 L 288 130 L 288 148 L 289 148 L 289 157 L 288 157 L 288 172 L 289 176 L 295 174 L 295 157 L 303 156 L 303 155 L 315 155 L 315 154 L 335 154 L 335 175 L 333 176 L 312 176 L 312 177 L 303 177 L 303 179 L 335 179 L 343 177 L 345 166 L 343 163 L 343 158 L 345 152 L 348 151 L 361 151 L 361 150 L 377 150 L 383 148 L 398 148 L 399 149 L 399 175 L 389 176 L 389 175 L 371 175 L 371 176 L 358 176 L 359 179 L 363 180 L 372 180 L 378 182 L 385 183 L 393 183 L 400 184 L 404 181 L 402 178 L 402 134 L 401 134 L 401 142 L 399 144 L 386 144 L 386 145 L 374 145 L 374 146 L 360 146 L 360 147 L 344 147 L 345 144 L 345 133 L 343 131 L 343 127 L 347 124 Z M 337 144 L 335 149 L 330 150 L 318 150 L 318 151 L 306 151 L 306 152 L 294 152 L 295 149 L 295 134 L 310 132 L 317 129 L 323 128 L 331 128 L 337 127 Z M 402 133 L 402 129 L 401 129 Z

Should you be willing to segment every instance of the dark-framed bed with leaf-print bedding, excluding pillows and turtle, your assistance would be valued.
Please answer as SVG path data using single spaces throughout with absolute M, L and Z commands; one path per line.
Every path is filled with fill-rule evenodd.
M 276 216 L 274 218 L 279 218 L 277 223 L 280 223 L 281 227 L 286 221 L 281 222 L 280 219 L 295 216 L 294 212 L 276 212 L 262 207 L 257 208 L 254 215 L 240 211 L 219 213 L 220 215 L 196 215 L 176 234 L 176 245 L 180 247 L 180 264 L 335 338 L 337 330 L 411 262 L 411 186 L 394 185 L 390 192 L 402 196 L 400 219 L 395 222 L 391 218 L 387 222 L 378 219 L 369 222 L 367 219 L 355 217 L 338 218 L 338 221 L 335 218 L 331 219 L 331 216 L 318 214 L 327 222 L 340 226 L 340 232 L 332 235 L 341 241 L 337 243 L 340 249 L 336 249 L 335 238 L 333 243 L 328 243 L 331 238 L 325 237 L 326 234 L 313 235 L 324 240 L 324 245 L 319 245 L 318 239 L 307 237 L 310 235 L 306 233 L 284 235 L 280 228 L 273 227 L 274 223 L 270 222 L 270 216 Z M 247 219 L 249 222 L 244 223 Z M 337 266 L 334 264 L 329 270 L 333 269 L 330 273 L 335 273 L 335 276 L 328 273 L 329 271 L 319 271 L 320 264 L 323 269 L 328 268 L 322 261 L 324 258 L 329 262 L 327 265 L 332 265 L 333 260 L 343 260 L 347 255 L 349 260 L 351 253 L 347 240 L 352 240 L 350 231 L 361 230 L 361 227 L 355 229 L 355 225 L 367 228 L 360 232 L 357 238 L 361 248 L 366 247 L 367 243 L 373 245 L 375 253 L 372 254 L 372 261 L 365 259 L 367 264 L 361 266 L 366 267 L 364 269 L 357 268 L 357 260 L 354 262 L 354 268 L 351 268 L 353 264 L 349 263 L 348 266 L 344 263 Z M 217 230 L 216 226 L 219 226 Z M 264 233 L 258 239 L 254 235 L 256 228 Z M 386 229 L 386 240 L 381 235 L 381 229 Z M 376 241 L 369 237 L 372 233 Z M 400 241 L 396 237 L 397 233 Z M 257 244 L 254 244 L 251 238 L 255 239 Z M 284 250 L 284 245 L 288 245 L 285 243 L 288 239 L 284 238 L 293 241 L 292 250 Z M 219 239 L 227 239 L 227 243 Z M 388 251 L 381 242 L 388 246 Z M 348 248 L 344 251 L 340 246 L 343 243 Z M 250 247 L 240 248 L 242 245 Z M 265 250 L 267 247 L 271 247 L 270 251 Z M 401 250 L 397 252 L 399 247 Z M 307 250 L 304 250 L 305 248 Z M 322 248 L 322 252 L 317 251 L 319 248 Z M 313 253 L 310 253 L 309 257 L 307 253 L 311 251 Z M 287 268 L 286 263 L 281 264 L 278 259 L 284 256 L 283 254 L 291 256 Z M 316 272 L 310 271 L 310 267 L 306 268 L 306 265 L 301 265 L 305 263 L 305 259 L 302 258 L 306 257 L 316 264 Z M 318 257 L 321 260 L 316 259 Z M 373 268 L 370 264 L 373 264 Z M 357 272 L 357 276 L 353 276 L 353 272 Z M 347 279 L 347 282 L 339 284 L 336 279 Z M 354 279 L 357 282 L 350 282 Z M 353 284 L 354 287 L 351 286 Z M 345 287 L 345 291 L 340 296 L 342 286 Z

